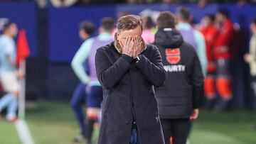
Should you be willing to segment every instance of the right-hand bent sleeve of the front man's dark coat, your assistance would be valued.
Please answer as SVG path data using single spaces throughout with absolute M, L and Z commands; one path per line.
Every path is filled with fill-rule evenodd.
M 142 54 L 141 60 L 137 62 L 136 67 L 152 85 L 161 87 L 166 79 L 166 71 L 158 48 L 155 47 L 153 50 L 151 61 Z

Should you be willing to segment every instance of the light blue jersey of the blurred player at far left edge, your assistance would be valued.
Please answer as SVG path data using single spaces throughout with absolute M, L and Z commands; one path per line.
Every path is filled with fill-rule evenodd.
M 11 57 L 11 61 L 8 60 Z M 14 72 L 16 60 L 16 45 L 14 38 L 7 35 L 0 36 L 0 72 Z

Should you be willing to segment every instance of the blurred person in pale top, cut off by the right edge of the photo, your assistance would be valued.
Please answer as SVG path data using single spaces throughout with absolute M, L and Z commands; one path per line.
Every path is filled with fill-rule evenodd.
M 256 96 L 256 18 L 250 24 L 252 38 L 250 38 L 250 50 L 245 54 L 245 62 L 250 65 L 251 87 Z

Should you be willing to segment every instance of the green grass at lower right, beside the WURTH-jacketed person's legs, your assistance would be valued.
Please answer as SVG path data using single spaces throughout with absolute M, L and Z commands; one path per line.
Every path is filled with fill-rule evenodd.
M 250 111 L 203 111 L 194 122 L 191 143 L 255 144 L 255 120 Z

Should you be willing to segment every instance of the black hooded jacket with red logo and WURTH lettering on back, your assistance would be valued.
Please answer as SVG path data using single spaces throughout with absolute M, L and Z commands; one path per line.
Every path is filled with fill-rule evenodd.
M 160 118 L 189 118 L 203 98 L 203 74 L 196 51 L 171 28 L 159 29 L 155 45 L 167 72 L 163 87 L 156 88 Z

